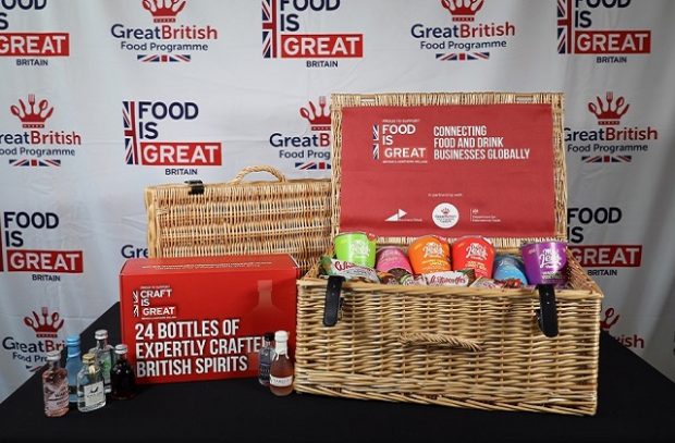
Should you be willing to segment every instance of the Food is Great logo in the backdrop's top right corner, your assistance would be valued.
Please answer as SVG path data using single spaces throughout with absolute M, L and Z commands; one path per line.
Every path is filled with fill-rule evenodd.
M 650 53 L 651 30 L 611 28 L 631 1 L 557 0 L 557 52 L 591 56 L 597 63 L 626 63 L 629 56 Z

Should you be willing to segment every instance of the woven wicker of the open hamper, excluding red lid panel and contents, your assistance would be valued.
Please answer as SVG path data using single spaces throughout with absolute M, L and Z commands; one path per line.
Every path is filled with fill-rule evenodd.
M 545 103 L 553 114 L 555 233 L 566 239 L 560 94 L 333 95 L 332 235 L 340 232 L 342 110 L 346 107 Z M 413 237 L 378 237 L 405 247 Z M 453 238 L 451 238 L 452 241 Z M 533 237 L 494 237 L 517 251 Z M 360 399 L 490 410 L 593 415 L 602 293 L 568 255 L 572 288 L 556 291 L 560 333 L 537 322 L 533 290 L 345 282 L 341 317 L 323 325 L 327 280 L 318 264 L 298 281 L 295 390 Z

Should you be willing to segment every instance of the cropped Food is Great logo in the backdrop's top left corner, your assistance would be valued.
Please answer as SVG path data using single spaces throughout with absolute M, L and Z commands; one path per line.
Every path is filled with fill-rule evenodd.
M 28 12 L 37 17 L 47 5 L 47 0 L 2 1 L 0 57 L 14 59 L 17 66 L 47 66 L 50 59 L 70 56 L 69 33 L 8 30 L 13 23 L 14 14 Z

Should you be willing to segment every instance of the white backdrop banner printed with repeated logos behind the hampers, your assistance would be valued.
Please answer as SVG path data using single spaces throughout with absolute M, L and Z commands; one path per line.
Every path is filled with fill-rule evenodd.
M 119 299 L 143 192 L 329 177 L 330 95 L 562 91 L 602 328 L 675 380 L 675 2 L 0 0 L 0 399 Z M 254 176 L 255 179 L 255 176 Z

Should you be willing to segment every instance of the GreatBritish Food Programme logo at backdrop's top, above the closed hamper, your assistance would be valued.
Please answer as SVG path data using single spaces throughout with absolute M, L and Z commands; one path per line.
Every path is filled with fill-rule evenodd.
M 189 63 L 195 54 L 208 52 L 209 44 L 219 38 L 212 25 L 182 22 L 187 0 L 143 0 L 139 5 L 139 15 L 151 25 L 115 23 L 110 35 L 121 51 L 133 53 L 142 63 Z

